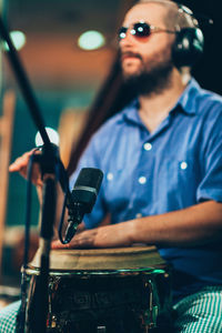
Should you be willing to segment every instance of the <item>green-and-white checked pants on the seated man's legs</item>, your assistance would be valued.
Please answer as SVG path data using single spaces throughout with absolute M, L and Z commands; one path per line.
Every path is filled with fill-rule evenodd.
M 20 301 L 0 311 L 0 333 L 16 333 L 19 307 Z M 184 297 L 173 309 L 176 313 L 173 333 L 222 333 L 222 286 L 208 286 Z

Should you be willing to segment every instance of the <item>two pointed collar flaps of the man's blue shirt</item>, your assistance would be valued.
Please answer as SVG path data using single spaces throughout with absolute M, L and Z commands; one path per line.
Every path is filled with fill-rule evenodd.
M 196 80 L 192 78 L 188 83 L 185 90 L 180 95 L 172 111 L 175 110 L 178 107 L 180 107 L 180 110 L 185 112 L 186 114 L 195 114 L 196 113 L 195 99 L 196 95 L 200 93 L 200 90 L 201 87 L 199 85 Z M 139 109 L 139 100 L 134 99 L 128 107 L 123 109 L 122 119 L 127 119 L 129 121 L 142 124 L 142 121 L 138 114 L 138 109 Z

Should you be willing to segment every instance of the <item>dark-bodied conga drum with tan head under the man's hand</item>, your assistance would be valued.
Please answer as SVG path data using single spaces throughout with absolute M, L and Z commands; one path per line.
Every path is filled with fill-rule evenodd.
M 27 270 L 27 327 L 34 332 L 39 250 Z M 47 332 L 170 332 L 171 274 L 154 246 L 53 250 Z

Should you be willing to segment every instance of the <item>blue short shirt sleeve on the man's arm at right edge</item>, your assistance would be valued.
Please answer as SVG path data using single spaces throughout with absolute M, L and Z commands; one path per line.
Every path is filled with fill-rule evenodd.
M 203 131 L 203 178 L 198 188 L 196 200 L 222 202 L 222 112 L 218 112 L 213 119 L 211 114 Z

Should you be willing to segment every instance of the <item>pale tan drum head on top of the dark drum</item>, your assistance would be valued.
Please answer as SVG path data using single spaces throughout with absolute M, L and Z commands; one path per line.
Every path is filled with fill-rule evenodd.
M 40 268 L 40 249 L 30 268 Z M 155 246 L 132 246 L 91 250 L 52 250 L 50 270 L 56 271 L 105 271 L 153 269 L 165 264 Z

